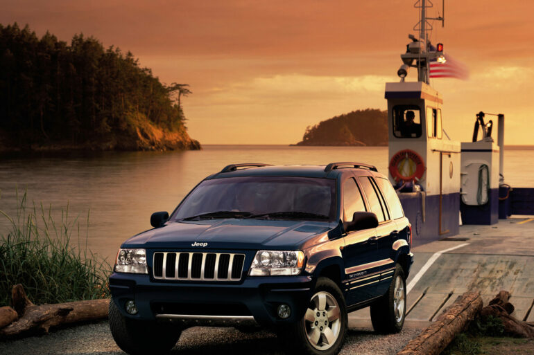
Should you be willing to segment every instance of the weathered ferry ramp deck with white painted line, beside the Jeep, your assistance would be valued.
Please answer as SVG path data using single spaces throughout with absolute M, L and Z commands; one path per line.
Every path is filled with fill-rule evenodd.
M 458 295 L 479 290 L 488 304 L 510 291 L 513 316 L 534 321 L 534 219 L 515 217 L 492 226 L 460 226 L 460 234 L 413 248 L 407 280 L 406 327 L 436 320 Z M 351 327 L 369 327 L 368 309 L 350 313 Z

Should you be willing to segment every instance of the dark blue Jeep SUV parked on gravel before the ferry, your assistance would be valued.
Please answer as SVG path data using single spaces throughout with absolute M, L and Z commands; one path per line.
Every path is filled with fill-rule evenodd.
M 125 352 L 171 349 L 186 327 L 270 327 L 305 354 L 337 354 L 347 313 L 402 329 L 411 225 L 372 165 L 228 165 L 121 245 L 110 328 Z

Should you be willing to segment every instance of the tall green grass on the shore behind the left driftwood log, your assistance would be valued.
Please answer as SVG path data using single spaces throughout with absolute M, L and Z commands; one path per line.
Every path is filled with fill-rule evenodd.
M 69 220 L 68 206 L 60 218 L 53 218 L 51 206 L 33 202 L 28 207 L 26 193 L 19 198 L 17 192 L 16 215 L 0 210 L 1 217 L 8 219 L 9 227 L 0 231 L 0 307 L 10 303 L 15 284 L 22 284 L 35 304 L 109 295 L 107 276 L 112 268 L 87 250 L 87 232 L 84 238 L 78 219 Z M 84 245 L 71 244 L 73 232 L 78 241 L 85 239 Z

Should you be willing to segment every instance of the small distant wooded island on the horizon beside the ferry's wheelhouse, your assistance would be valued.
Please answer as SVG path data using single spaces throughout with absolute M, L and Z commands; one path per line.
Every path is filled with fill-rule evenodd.
M 296 145 L 388 145 L 388 112 L 356 110 L 308 126 Z

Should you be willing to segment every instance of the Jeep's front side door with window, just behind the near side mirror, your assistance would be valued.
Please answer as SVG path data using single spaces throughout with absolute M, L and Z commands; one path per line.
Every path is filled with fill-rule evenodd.
M 343 221 L 352 221 L 354 212 L 365 211 L 365 203 L 359 186 L 353 177 L 343 183 Z M 341 251 L 345 262 L 347 305 L 373 298 L 377 293 L 379 273 L 372 266 L 377 262 L 378 244 L 374 228 L 356 230 L 345 235 L 345 246 Z

